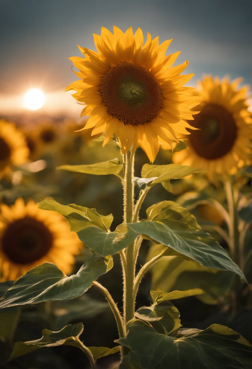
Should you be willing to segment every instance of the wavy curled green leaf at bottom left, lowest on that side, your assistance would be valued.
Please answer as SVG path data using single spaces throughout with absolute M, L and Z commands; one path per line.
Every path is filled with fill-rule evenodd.
M 69 324 L 58 332 L 52 332 L 48 329 L 44 329 L 42 331 L 43 336 L 39 339 L 27 342 L 16 342 L 9 361 L 18 358 L 19 356 L 28 354 L 29 352 L 36 351 L 42 347 L 71 345 L 81 348 L 81 345 L 78 343 L 78 341 L 76 341 L 76 339 L 80 337 L 82 332 L 82 323 Z

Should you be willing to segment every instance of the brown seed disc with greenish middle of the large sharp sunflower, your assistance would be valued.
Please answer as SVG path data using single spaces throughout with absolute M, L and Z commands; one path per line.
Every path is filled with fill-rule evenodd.
M 104 73 L 100 93 L 109 115 L 131 125 L 153 120 L 163 101 L 160 84 L 153 74 L 127 62 Z

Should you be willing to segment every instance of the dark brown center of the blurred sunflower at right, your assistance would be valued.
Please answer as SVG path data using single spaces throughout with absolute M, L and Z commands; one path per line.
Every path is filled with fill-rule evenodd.
M 217 104 L 206 104 L 190 121 L 197 131 L 190 130 L 190 146 L 202 158 L 218 159 L 230 152 L 237 137 L 237 126 L 232 114 Z

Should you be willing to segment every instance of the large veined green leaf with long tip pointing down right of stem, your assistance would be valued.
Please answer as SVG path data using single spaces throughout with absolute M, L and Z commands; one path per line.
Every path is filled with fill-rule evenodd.
M 149 207 L 147 215 L 148 221 L 128 223 L 127 226 L 137 234 L 147 235 L 207 268 L 230 270 L 246 280 L 227 252 L 179 204 L 163 201 Z

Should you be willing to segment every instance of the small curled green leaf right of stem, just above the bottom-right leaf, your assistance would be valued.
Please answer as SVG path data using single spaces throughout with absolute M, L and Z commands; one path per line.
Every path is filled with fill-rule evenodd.
M 158 333 L 176 336 L 181 327 L 178 309 L 165 301 L 166 296 L 162 291 L 152 291 L 151 297 L 153 304 L 138 308 L 135 317 L 151 324 Z

